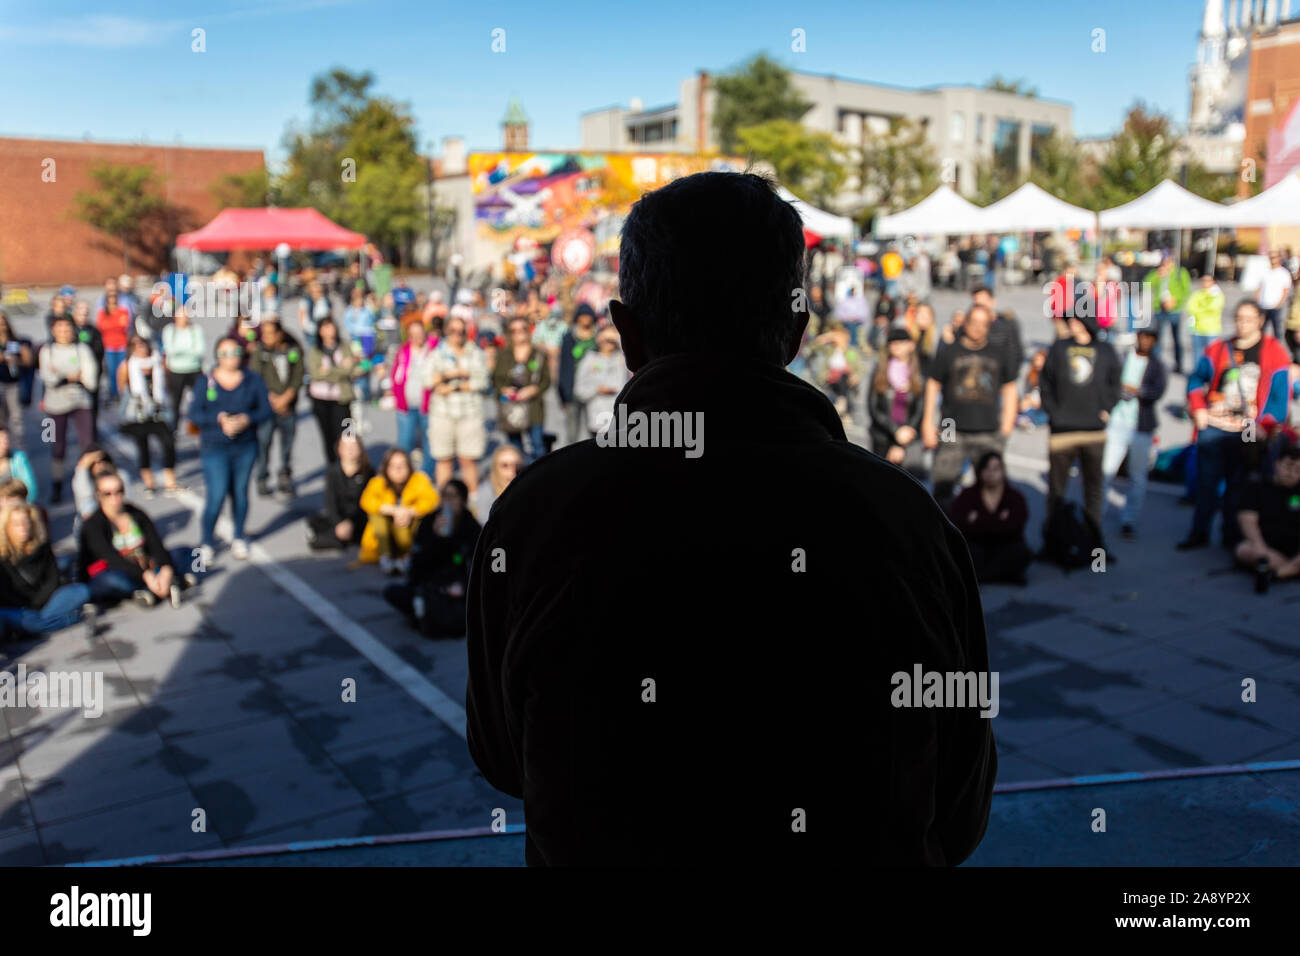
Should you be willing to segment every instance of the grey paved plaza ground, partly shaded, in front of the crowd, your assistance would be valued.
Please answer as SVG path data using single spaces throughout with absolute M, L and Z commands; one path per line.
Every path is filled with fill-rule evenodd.
M 1234 302 L 1236 290 L 1226 291 Z M 961 302 L 936 291 L 940 321 Z M 1013 290 L 1000 304 L 1023 320 L 1027 351 L 1046 343 L 1037 290 Z M 16 316 L 21 334 L 44 338 L 43 306 Z M 212 341 L 221 324 L 204 325 Z M 1176 405 L 1182 386 L 1174 377 L 1162 405 Z M 382 600 L 377 568 L 347 570 L 344 557 L 308 551 L 302 518 L 321 505 L 324 455 L 306 407 L 299 497 L 286 506 L 254 494 L 250 562 L 218 551 L 181 610 L 121 607 L 92 635 L 74 627 L 0 648 L 0 669 L 10 671 L 103 671 L 107 697 L 98 719 L 0 710 L 0 864 L 488 832 L 498 809 L 512 827 L 524 822 L 519 801 L 486 784 L 465 748 L 464 640 L 419 637 Z M 29 415 L 36 434 L 39 412 Z M 864 412 L 855 418 L 850 438 L 864 442 Z M 101 425 L 112 421 L 107 411 Z M 393 412 L 370 410 L 368 423 L 372 447 L 395 440 Z M 1165 447 L 1187 434 L 1186 421 L 1164 416 Z M 122 451 L 130 463 L 134 454 Z M 29 442 L 29 454 L 48 476 L 44 446 Z M 1045 429 L 1017 432 L 1008 464 L 1030 501 L 1036 545 Z M 194 438 L 182 440 L 178 471 L 194 494 L 136 503 L 169 545 L 196 546 Z M 1121 480 L 1113 503 L 1123 490 Z M 1152 485 L 1136 541 L 1121 541 L 1108 519 L 1117 561 L 1104 572 L 1035 564 L 1026 588 L 985 588 L 991 665 L 1001 675 L 1001 787 L 1300 761 L 1300 587 L 1257 597 L 1223 551 L 1175 551 L 1191 519 L 1179 494 Z M 52 537 L 68 549 L 72 505 L 49 511 Z M 866 611 L 862 623 L 870 631 Z M 348 678 L 356 702 L 344 704 Z M 1256 702 L 1242 701 L 1247 678 Z M 1089 829 L 1098 806 L 1106 834 Z M 1053 784 L 1000 793 L 971 864 L 1294 864 L 1297 823 L 1296 770 Z M 523 843 L 482 836 L 247 862 L 259 860 L 521 864 Z

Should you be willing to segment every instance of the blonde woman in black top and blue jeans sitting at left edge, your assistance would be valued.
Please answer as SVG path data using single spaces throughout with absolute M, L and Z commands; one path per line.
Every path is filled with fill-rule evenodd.
M 84 584 L 64 584 L 40 512 L 26 502 L 0 510 L 0 623 L 25 633 L 49 633 L 82 619 Z

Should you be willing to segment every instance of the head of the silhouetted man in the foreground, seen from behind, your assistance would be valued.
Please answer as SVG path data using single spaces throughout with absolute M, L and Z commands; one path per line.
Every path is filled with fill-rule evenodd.
M 651 356 L 731 351 L 784 365 L 806 243 L 798 212 L 754 173 L 696 173 L 623 224 L 619 297 Z

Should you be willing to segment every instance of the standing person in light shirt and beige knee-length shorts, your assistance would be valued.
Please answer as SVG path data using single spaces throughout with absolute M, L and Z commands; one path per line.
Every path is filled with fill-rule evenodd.
M 434 485 L 451 480 L 454 464 L 469 493 L 478 488 L 478 459 L 488 450 L 482 390 L 488 364 L 482 351 L 467 341 L 465 320 L 451 311 L 442 341 L 429 356 L 429 447 L 433 450 Z

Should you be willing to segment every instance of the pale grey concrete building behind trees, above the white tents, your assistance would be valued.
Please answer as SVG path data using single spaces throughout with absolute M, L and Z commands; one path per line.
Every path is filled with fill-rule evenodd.
M 1015 173 L 1030 168 L 1035 143 L 1072 133 L 1067 103 L 985 90 L 978 86 L 906 88 L 815 73 L 792 73 L 792 82 L 811 108 L 802 117 L 810 130 L 829 133 L 846 147 L 859 147 L 888 130 L 893 118 L 919 122 L 956 187 L 972 194 L 982 160 Z M 710 152 L 718 148 L 712 117 L 718 94 L 708 73 L 681 81 L 677 103 L 645 109 L 606 107 L 581 117 L 584 150 L 654 150 Z M 867 196 L 850 182 L 840 196 L 842 211 Z

